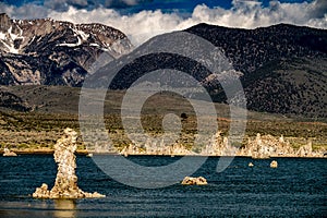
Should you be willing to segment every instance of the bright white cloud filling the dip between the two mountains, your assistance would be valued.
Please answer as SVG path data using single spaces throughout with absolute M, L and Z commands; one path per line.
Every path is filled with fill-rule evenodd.
M 128 16 L 120 15 L 112 9 L 99 8 L 86 11 L 70 8 L 63 13 L 52 11 L 49 16 L 73 23 L 102 23 L 122 31 L 134 45 L 141 45 L 158 34 L 181 29 L 179 26 L 183 23 L 183 20 L 177 14 L 165 14 L 159 10 L 142 11 Z

